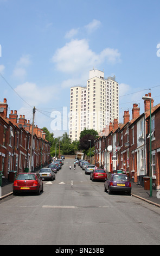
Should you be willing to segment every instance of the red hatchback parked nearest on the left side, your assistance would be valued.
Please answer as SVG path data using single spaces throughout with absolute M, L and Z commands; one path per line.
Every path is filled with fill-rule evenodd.
M 43 181 L 37 173 L 18 173 L 14 184 L 13 194 L 22 192 L 35 192 L 38 195 L 43 192 Z

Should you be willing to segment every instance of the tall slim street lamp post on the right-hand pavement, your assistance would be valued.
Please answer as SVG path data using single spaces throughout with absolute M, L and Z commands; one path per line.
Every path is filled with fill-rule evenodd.
M 150 100 L 150 197 L 152 197 L 152 115 L 151 115 L 151 100 L 150 96 L 143 96 L 143 100 Z

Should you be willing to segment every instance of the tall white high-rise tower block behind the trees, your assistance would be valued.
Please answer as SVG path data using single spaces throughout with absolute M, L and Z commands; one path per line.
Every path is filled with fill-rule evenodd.
M 118 119 L 119 84 L 116 77 L 104 78 L 100 70 L 89 71 L 87 86 L 71 87 L 69 137 L 79 139 L 80 132 L 93 129 L 100 132 Z

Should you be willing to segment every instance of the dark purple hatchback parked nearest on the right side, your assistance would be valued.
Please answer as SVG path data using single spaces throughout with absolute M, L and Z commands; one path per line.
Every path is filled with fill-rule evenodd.
M 127 194 L 131 194 L 131 182 L 126 174 L 114 173 L 110 174 L 104 184 L 105 192 L 108 190 L 108 194 L 112 192 L 124 191 Z

